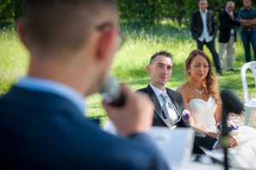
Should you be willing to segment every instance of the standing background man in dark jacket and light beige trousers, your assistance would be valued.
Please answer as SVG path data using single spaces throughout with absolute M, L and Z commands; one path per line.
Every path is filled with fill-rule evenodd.
M 219 37 L 218 37 L 218 56 L 220 66 L 223 69 L 224 52 L 226 51 L 226 70 L 234 71 L 233 59 L 236 48 L 236 26 L 240 25 L 234 13 L 235 3 L 226 3 L 225 10 L 218 15 Z

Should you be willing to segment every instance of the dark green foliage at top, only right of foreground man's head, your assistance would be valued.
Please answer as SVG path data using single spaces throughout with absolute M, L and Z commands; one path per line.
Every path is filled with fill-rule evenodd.
M 224 10 L 225 0 L 208 1 L 209 8 L 218 13 Z M 236 11 L 241 0 L 235 0 Z M 198 9 L 197 0 L 119 0 L 119 14 L 122 22 L 135 25 L 158 24 L 160 20 L 176 20 L 179 26 L 189 24 L 190 16 Z

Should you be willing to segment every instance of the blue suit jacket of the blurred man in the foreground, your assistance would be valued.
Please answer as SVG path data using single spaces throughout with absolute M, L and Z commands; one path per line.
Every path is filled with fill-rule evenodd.
M 0 99 L 0 169 L 167 169 L 148 135 L 119 138 L 69 100 L 13 87 Z

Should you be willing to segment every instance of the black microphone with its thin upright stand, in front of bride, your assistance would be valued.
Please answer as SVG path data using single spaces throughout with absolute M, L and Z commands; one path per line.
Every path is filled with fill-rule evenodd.
M 224 169 L 229 169 L 229 160 L 228 160 L 228 150 L 229 144 L 229 129 L 227 127 L 227 117 L 230 112 L 233 112 L 237 115 L 241 114 L 243 111 L 243 105 L 231 90 L 222 90 L 220 93 L 220 98 L 222 99 L 222 136 L 221 143 L 224 147 Z

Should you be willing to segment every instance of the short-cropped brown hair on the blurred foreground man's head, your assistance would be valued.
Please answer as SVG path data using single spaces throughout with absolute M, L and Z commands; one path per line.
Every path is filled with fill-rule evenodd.
M 25 0 L 26 45 L 49 53 L 75 52 L 115 13 L 114 0 Z

